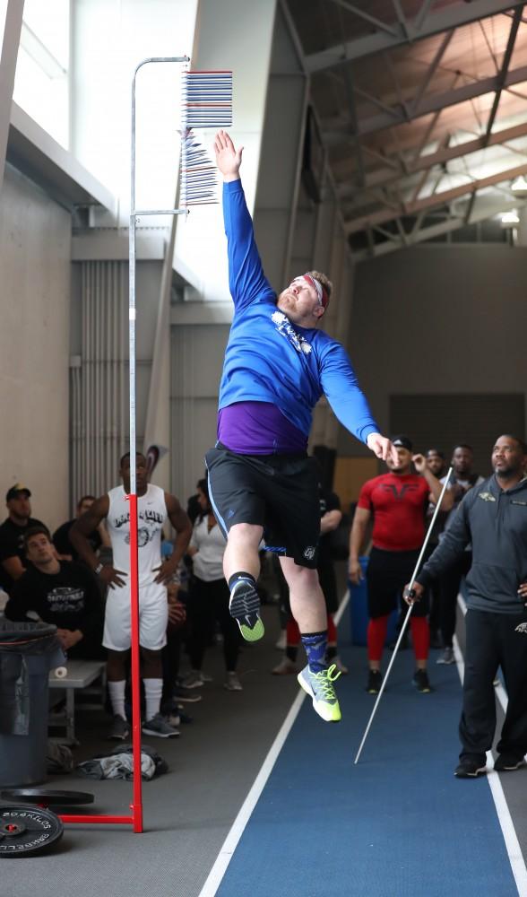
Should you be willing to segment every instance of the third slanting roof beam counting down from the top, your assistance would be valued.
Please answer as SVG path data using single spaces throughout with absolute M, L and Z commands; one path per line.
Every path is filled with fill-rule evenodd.
M 389 165 L 392 169 L 397 169 L 396 173 L 387 173 L 385 169 L 373 171 L 371 174 L 367 174 L 365 187 L 386 187 L 388 184 L 396 183 L 405 175 L 417 174 L 419 171 L 431 169 L 435 165 L 442 165 L 453 159 L 461 159 L 462 156 L 468 156 L 471 152 L 484 150 L 488 146 L 506 144 L 511 140 L 517 140 L 519 137 L 524 137 L 526 135 L 527 121 L 523 122 L 522 125 L 514 125 L 514 127 L 505 127 L 502 128 L 501 131 L 495 131 L 494 134 L 491 134 L 488 137 L 488 140 L 486 135 L 482 135 L 481 137 L 476 137 L 474 140 L 466 140 L 463 144 L 445 146 L 436 152 L 428 152 L 425 155 L 419 156 L 414 161 L 407 162 L 406 170 L 402 170 L 402 167 L 398 167 L 397 162 L 393 161 L 393 159 L 384 159 L 384 157 L 379 155 L 378 158 L 384 161 L 385 165 Z M 367 152 L 366 147 L 363 147 L 363 150 Z M 340 183 L 338 195 L 341 199 L 344 199 L 346 196 L 353 196 L 356 193 L 357 184 L 355 181 L 350 181 L 350 184 Z

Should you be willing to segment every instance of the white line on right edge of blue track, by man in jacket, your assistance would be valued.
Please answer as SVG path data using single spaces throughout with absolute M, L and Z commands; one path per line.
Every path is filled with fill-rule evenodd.
M 467 606 L 461 595 L 458 595 L 457 598 L 458 605 L 462 609 L 463 616 L 467 613 Z M 463 676 L 465 674 L 465 665 L 462 658 L 462 652 L 459 647 L 459 642 L 454 636 L 454 657 L 457 665 L 457 671 L 459 673 L 459 677 L 461 682 L 463 681 Z M 495 686 L 497 692 L 497 698 L 500 702 L 504 711 L 506 711 L 507 705 L 507 696 L 503 685 L 499 684 Z M 501 693 L 500 693 L 501 692 Z M 503 838 L 505 840 L 505 849 L 507 851 L 507 855 L 509 858 L 509 862 L 511 864 L 511 868 L 513 870 L 514 881 L 516 883 L 516 887 L 518 889 L 519 897 L 524 897 L 527 894 L 527 868 L 525 867 L 525 860 L 523 859 L 522 848 L 520 847 L 520 842 L 518 840 L 518 836 L 516 834 L 516 830 L 514 829 L 513 818 L 511 816 L 511 812 L 507 806 L 507 802 L 505 799 L 504 790 L 501 785 L 501 781 L 499 779 L 499 775 L 492 769 L 492 765 L 494 763 L 494 758 L 492 756 L 492 752 L 487 752 L 487 766 L 488 766 L 488 787 L 490 788 L 490 793 L 494 800 L 494 806 L 496 807 L 497 819 L 501 827 L 501 831 L 503 834 Z

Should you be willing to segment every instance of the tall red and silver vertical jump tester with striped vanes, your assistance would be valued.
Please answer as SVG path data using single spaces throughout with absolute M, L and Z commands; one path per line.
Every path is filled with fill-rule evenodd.
M 193 205 L 218 203 L 216 166 L 203 145 L 196 139 L 193 128 L 228 127 L 232 125 L 232 72 L 197 72 L 184 68 L 181 74 L 181 157 L 180 204 L 177 209 L 135 208 L 135 81 L 140 68 L 152 63 L 176 63 L 188 66 L 189 57 L 149 57 L 143 59 L 134 70 L 132 79 L 131 118 L 131 166 L 130 166 L 130 224 L 128 239 L 129 300 L 129 412 L 130 412 L 130 605 L 132 640 L 132 747 L 133 747 L 133 799 L 130 814 L 54 814 L 48 810 L 52 804 L 65 806 L 88 804 L 93 796 L 83 792 L 56 792 L 26 789 L 27 794 L 13 791 L 13 797 L 30 799 L 33 806 L 2 807 L 0 841 L 9 849 L 0 849 L 3 856 L 30 856 L 46 849 L 63 834 L 63 823 L 101 823 L 131 825 L 134 832 L 143 832 L 143 795 L 141 778 L 141 698 L 140 698 L 140 648 L 139 648 L 139 585 L 138 585 L 138 515 L 136 483 L 136 405 L 135 405 L 135 229 L 139 216 L 187 215 Z M 7 792 L 3 792 L 3 797 Z M 12 797 L 12 795 L 10 795 Z

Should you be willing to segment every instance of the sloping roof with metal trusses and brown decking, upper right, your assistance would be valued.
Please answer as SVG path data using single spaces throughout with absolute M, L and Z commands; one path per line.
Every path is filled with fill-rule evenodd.
M 524 3 L 281 3 L 355 257 L 523 205 L 510 184 L 527 175 Z

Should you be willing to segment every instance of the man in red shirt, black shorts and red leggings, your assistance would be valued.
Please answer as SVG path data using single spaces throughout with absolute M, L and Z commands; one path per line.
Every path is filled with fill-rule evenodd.
M 359 493 L 359 501 L 350 535 L 350 580 L 361 578 L 359 553 L 367 526 L 373 517 L 373 547 L 367 565 L 367 656 L 369 676 L 367 692 L 378 694 L 381 684 L 381 658 L 388 618 L 397 601 L 402 601 L 402 588 L 411 577 L 425 539 L 425 515 L 428 501 L 436 502 L 442 485 L 430 471 L 423 455 L 412 455 L 408 436 L 395 436 L 397 461 L 386 461 L 388 473 L 367 480 Z M 417 474 L 411 472 L 415 466 Z M 450 497 L 444 498 L 447 510 Z M 416 614 L 416 610 L 418 613 Z M 411 638 L 416 659 L 413 683 L 419 692 L 430 692 L 427 674 L 430 631 L 428 601 L 414 606 L 410 617 Z

